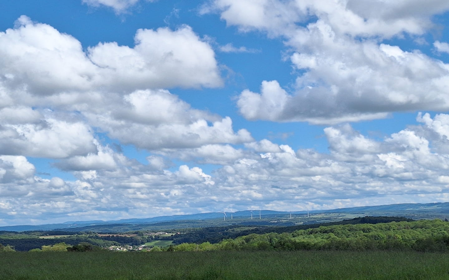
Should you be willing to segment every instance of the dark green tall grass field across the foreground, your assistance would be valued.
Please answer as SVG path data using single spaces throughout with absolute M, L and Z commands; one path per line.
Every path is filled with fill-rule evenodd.
M 449 279 L 448 255 L 398 251 L 12 252 L 0 279 Z

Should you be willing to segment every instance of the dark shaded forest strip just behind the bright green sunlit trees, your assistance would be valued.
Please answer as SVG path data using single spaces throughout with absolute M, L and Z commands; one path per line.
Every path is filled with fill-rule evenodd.
M 215 228 L 200 228 L 196 230 L 190 230 L 188 233 L 175 234 L 171 240 L 174 244 L 181 243 L 198 243 L 209 241 L 210 243 L 218 243 L 225 239 L 233 239 L 239 236 L 245 236 L 252 233 L 264 234 L 264 233 L 293 233 L 297 230 L 308 229 L 308 228 L 318 228 L 321 226 L 332 226 L 332 225 L 342 225 L 342 224 L 378 224 L 378 223 L 389 223 L 389 222 L 400 222 L 400 221 L 413 221 L 404 217 L 387 217 L 387 216 L 366 216 L 358 217 L 351 220 L 342 220 L 332 223 L 321 223 L 321 224 L 304 224 L 289 227 L 249 227 L 241 225 L 233 225 L 227 227 L 215 227 Z

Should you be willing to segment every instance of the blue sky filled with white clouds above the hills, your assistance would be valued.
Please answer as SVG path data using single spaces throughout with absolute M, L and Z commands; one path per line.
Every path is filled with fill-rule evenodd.
M 0 225 L 449 201 L 447 0 L 0 2 Z

